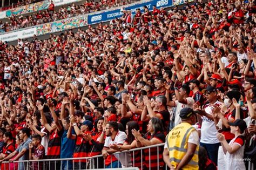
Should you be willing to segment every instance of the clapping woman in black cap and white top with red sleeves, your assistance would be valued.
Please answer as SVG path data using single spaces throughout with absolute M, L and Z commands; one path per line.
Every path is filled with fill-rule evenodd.
M 226 166 L 225 169 L 244 170 L 244 146 L 245 138 L 242 135 L 246 130 L 247 126 L 244 120 L 237 119 L 233 123 L 228 123 L 231 127 L 231 133 L 235 137 L 228 144 L 225 137 L 221 133 L 217 133 L 217 138 L 221 142 L 223 151 L 226 154 Z

